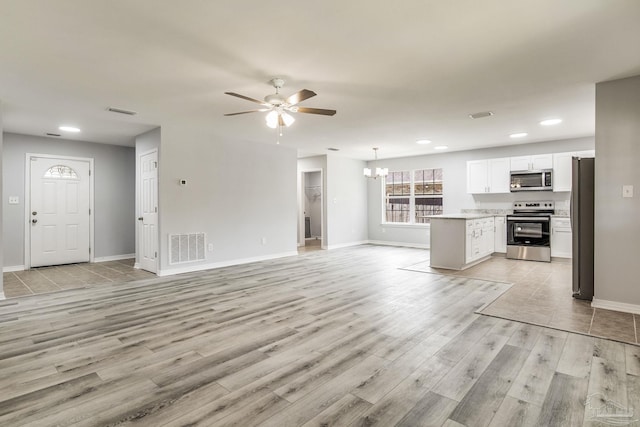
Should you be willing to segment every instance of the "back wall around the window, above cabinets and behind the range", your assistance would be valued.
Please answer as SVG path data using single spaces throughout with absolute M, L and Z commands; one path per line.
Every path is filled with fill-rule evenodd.
M 458 151 L 427 156 L 378 160 L 378 165 L 390 171 L 442 168 L 444 213 L 458 213 L 462 209 L 510 209 L 515 200 L 554 200 L 557 209 L 569 209 L 569 193 L 537 192 L 515 194 L 467 194 L 467 160 L 515 157 L 529 154 L 562 153 L 592 150 L 594 138 L 576 138 L 534 144 L 512 145 L 482 150 Z M 599 153 L 598 153 L 599 154 Z M 370 180 L 368 186 L 369 240 L 428 247 L 427 225 L 388 225 L 382 223 L 382 183 Z

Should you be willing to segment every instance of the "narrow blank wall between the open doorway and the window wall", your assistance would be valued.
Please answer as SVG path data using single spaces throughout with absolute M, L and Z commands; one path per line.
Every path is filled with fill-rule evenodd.
M 326 205 L 328 248 L 363 243 L 367 236 L 365 162 L 327 156 Z

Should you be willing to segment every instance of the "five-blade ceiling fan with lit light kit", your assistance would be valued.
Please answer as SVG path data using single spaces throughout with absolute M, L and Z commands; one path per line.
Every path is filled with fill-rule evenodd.
M 247 114 L 247 113 L 258 113 L 269 111 L 266 116 L 267 126 L 270 128 L 277 128 L 282 126 L 291 126 L 291 124 L 295 121 L 293 116 L 289 113 L 307 113 L 307 114 L 321 114 L 323 116 L 333 116 L 336 113 L 336 110 L 326 110 L 323 108 L 309 108 L 309 107 L 298 107 L 298 103 L 311 98 L 312 96 L 316 96 L 316 93 L 309 89 L 302 89 L 288 98 L 285 98 L 280 94 L 280 89 L 284 86 L 284 80 L 282 79 L 272 79 L 269 81 L 276 88 L 276 93 L 267 95 L 264 97 L 264 101 L 259 101 L 257 99 L 249 98 L 248 96 L 240 95 L 234 92 L 225 92 L 227 95 L 235 96 L 237 98 L 246 99 L 247 101 L 255 102 L 256 104 L 262 105 L 264 108 L 259 108 L 257 110 L 249 110 L 249 111 L 240 111 L 238 113 L 228 113 L 225 116 L 236 116 L 238 114 Z

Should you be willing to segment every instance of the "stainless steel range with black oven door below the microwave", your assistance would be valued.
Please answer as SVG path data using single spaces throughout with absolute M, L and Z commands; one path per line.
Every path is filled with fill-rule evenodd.
M 507 215 L 507 258 L 551 261 L 550 224 L 553 201 L 514 202 Z

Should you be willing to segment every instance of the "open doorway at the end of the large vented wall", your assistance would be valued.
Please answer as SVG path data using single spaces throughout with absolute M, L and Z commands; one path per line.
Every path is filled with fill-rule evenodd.
M 301 173 L 300 239 L 304 250 L 323 249 L 324 245 L 324 185 L 322 170 Z

